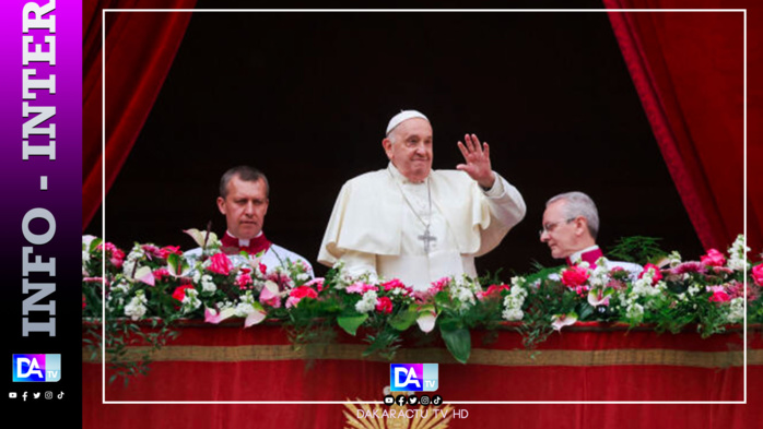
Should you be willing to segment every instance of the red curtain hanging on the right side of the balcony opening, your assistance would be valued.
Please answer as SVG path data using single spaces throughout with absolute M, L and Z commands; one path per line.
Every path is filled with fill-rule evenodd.
M 679 0 L 603 0 L 608 9 L 686 8 Z M 736 4 L 733 4 L 736 3 Z M 748 4 L 746 4 L 748 3 Z M 696 9 L 751 7 L 752 1 L 692 2 Z M 744 13 L 609 12 L 676 188 L 706 249 L 725 250 L 743 233 Z M 748 15 L 748 39 L 760 32 Z M 748 75 L 761 75 L 760 49 L 748 45 Z M 763 246 L 761 222 L 761 86 L 748 88 L 748 246 Z

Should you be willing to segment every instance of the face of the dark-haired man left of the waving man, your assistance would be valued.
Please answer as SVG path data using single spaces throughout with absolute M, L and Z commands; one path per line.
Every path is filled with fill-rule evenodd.
M 245 240 L 262 230 L 268 203 L 265 180 L 244 181 L 238 176 L 227 183 L 227 195 L 218 196 L 218 208 L 225 215 L 227 230 Z

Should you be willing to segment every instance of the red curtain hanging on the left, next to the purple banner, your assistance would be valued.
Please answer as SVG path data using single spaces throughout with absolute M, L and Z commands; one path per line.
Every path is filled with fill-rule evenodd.
M 104 9 L 191 9 L 196 0 L 92 0 L 82 5 L 82 228 L 101 206 Z M 106 13 L 106 190 L 138 138 L 173 63 L 191 13 Z

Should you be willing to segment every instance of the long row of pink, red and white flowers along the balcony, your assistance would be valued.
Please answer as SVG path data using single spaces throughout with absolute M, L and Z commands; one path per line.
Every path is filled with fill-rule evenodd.
M 396 278 L 352 277 L 341 263 L 326 277 L 312 278 L 302 263 L 266 266 L 261 255 L 225 254 L 214 234 L 186 233 L 200 249 L 137 243 L 126 254 L 83 237 L 83 317 L 99 320 L 105 296 L 106 351 L 118 369 L 115 377 L 144 372 L 150 353 L 140 365 L 122 364 L 127 347 L 162 347 L 176 335 L 178 319 L 220 323 L 238 318 L 244 327 L 280 321 L 295 346 L 309 346 L 314 354 L 336 339 L 340 326 L 350 335 L 364 335 L 369 344 L 364 355 L 390 359 L 403 333 L 430 337 L 438 330 L 460 362 L 469 359 L 474 327 L 516 329 L 531 348 L 578 321 L 650 324 L 673 333 L 695 324 L 708 336 L 741 323 L 746 302 L 748 322 L 763 321 L 763 264 L 747 260 L 743 236 L 726 254 L 711 249 L 700 261 L 683 261 L 672 252 L 661 266 L 647 263 L 638 273 L 601 258 L 594 266 L 541 269 L 509 284 L 445 277 L 426 290 L 413 290 Z M 141 329 L 139 321 L 150 329 Z M 91 327 L 90 334 L 90 345 L 97 349 L 98 332 Z

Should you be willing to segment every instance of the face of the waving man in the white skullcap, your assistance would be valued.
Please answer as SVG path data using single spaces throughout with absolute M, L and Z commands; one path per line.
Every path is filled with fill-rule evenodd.
M 401 122 L 382 143 L 392 165 L 412 182 L 421 182 L 432 170 L 432 126 L 422 118 Z

